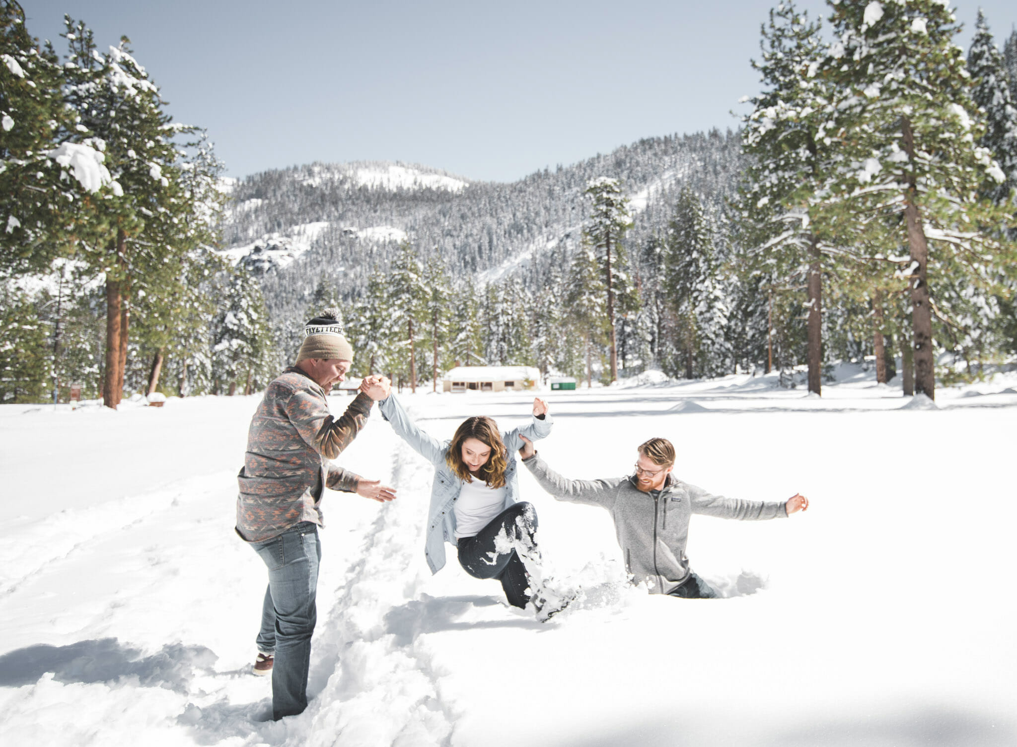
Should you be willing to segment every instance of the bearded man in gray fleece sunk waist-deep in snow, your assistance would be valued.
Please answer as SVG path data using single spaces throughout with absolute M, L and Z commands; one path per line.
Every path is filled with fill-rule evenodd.
M 526 443 L 519 450 L 523 463 L 544 490 L 559 501 L 610 511 L 625 570 L 635 582 L 646 581 L 651 594 L 692 600 L 717 597 L 689 567 L 685 544 L 692 514 L 758 520 L 809 508 L 803 495 L 778 503 L 743 501 L 683 483 L 671 475 L 674 446 L 666 438 L 651 438 L 639 447 L 634 475 L 610 480 L 566 480 L 540 458 L 530 440 L 523 440 Z

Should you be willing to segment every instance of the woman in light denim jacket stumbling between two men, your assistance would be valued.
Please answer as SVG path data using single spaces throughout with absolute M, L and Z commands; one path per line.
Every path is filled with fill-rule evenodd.
M 370 388 L 365 380 L 363 390 Z M 439 442 L 420 430 L 391 394 L 378 402 L 393 429 L 434 465 L 424 556 L 432 573 L 445 563 L 444 543 L 456 546 L 460 565 L 475 578 L 497 578 L 514 607 L 525 608 L 531 598 L 538 614 L 548 617 L 547 600 L 533 588 L 531 573 L 540 555 L 534 541 L 537 512 L 518 501 L 516 452 L 520 436 L 531 440 L 551 432 L 551 416 L 543 399 L 533 400 L 533 420 L 499 433 L 491 418 L 468 418 L 452 441 Z

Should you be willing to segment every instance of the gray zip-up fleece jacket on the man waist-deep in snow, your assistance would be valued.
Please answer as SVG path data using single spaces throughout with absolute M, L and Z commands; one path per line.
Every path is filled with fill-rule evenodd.
M 711 495 L 672 475 L 662 490 L 644 493 L 635 476 L 612 480 L 566 480 L 534 454 L 523 463 L 541 487 L 559 501 L 606 508 L 633 580 L 646 581 L 651 594 L 668 594 L 689 576 L 685 544 L 694 513 L 755 520 L 787 516 L 783 503 L 743 501 Z

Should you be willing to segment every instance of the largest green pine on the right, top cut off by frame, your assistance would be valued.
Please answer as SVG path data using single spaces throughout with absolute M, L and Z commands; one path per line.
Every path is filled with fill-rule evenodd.
M 977 190 L 986 176 L 1002 182 L 1005 175 L 975 144 L 981 132 L 971 117 L 971 81 L 952 42 L 959 26 L 944 3 L 844 0 L 832 21 L 842 119 L 829 136 L 849 167 L 832 194 L 852 227 L 864 216 L 903 213 L 898 236 L 909 249 L 914 383 L 934 397 L 934 304 L 938 317 L 951 313 L 941 291 L 964 285 L 992 294 L 1010 257 L 1004 241 L 978 230 L 1004 221 Z

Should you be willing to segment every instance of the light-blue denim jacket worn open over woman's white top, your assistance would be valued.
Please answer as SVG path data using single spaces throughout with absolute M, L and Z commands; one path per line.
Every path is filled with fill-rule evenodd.
M 445 454 L 448 453 L 451 441 L 439 442 L 433 436 L 424 433 L 413 422 L 400 404 L 395 395 L 378 402 L 378 410 L 393 430 L 398 433 L 413 449 L 425 459 L 434 464 L 434 482 L 431 485 L 431 506 L 427 511 L 427 532 L 424 544 L 424 556 L 431 573 L 437 573 L 445 564 L 444 544 L 456 543 L 456 512 L 453 504 L 459 498 L 463 481 L 448 466 Z M 551 432 L 551 416 L 548 413 L 543 420 L 536 417 L 524 428 L 502 432 L 501 440 L 507 451 L 505 466 L 505 503 L 502 510 L 518 500 L 519 485 L 516 479 L 516 452 L 523 445 L 520 435 L 531 441 L 545 438 Z

